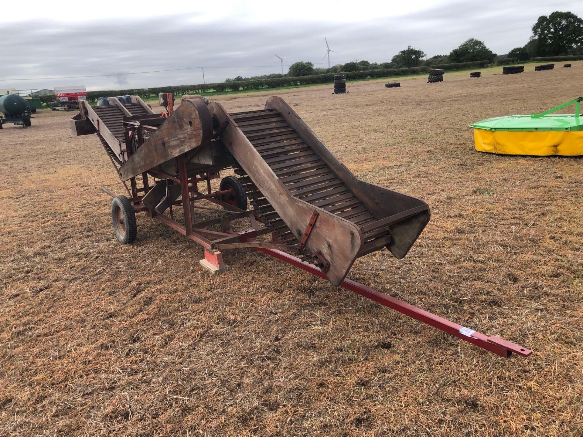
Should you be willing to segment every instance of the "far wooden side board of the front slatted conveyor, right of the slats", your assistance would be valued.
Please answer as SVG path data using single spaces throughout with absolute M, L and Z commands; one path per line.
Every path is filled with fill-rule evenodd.
M 265 109 L 275 109 L 280 112 L 287 123 L 294 128 L 298 136 L 342 179 L 350 191 L 363 202 L 366 209 L 373 213 L 375 220 L 381 220 L 416 206 L 426 205 L 421 199 L 382 186 L 369 184 L 356 178 L 346 168 L 346 165 L 338 161 L 338 158 L 282 98 L 277 96 L 270 97 L 265 103 Z M 429 218 L 430 212 L 427 210 L 391 227 L 393 238 L 387 248 L 395 258 L 401 259 L 409 252 L 409 249 L 429 222 Z

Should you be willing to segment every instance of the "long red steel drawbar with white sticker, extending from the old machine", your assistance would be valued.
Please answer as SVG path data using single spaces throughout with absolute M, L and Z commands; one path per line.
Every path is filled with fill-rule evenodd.
M 236 234 L 233 231 L 226 231 L 227 233 Z M 254 231 L 253 231 L 254 232 Z M 239 232 L 241 235 L 242 242 L 251 242 L 254 241 L 252 230 Z M 267 253 L 268 255 L 274 256 L 286 263 L 291 264 L 292 266 L 300 267 L 300 269 L 305 270 L 308 273 L 314 274 L 315 276 L 319 276 L 323 279 L 327 279 L 326 275 L 318 269 L 318 267 L 303 262 L 301 259 L 296 258 L 289 253 L 278 251 L 276 249 L 266 249 L 266 248 L 255 248 L 260 252 Z M 506 341 L 494 336 L 487 336 L 485 334 L 479 333 L 473 329 L 469 329 L 468 327 L 458 325 L 457 323 L 452 322 L 451 320 L 444 319 L 440 316 L 436 316 L 435 314 L 430 313 L 429 311 L 425 311 L 424 309 L 417 308 L 416 306 L 410 305 L 406 302 L 399 301 L 399 299 L 395 299 L 387 294 L 381 293 L 380 291 L 374 290 L 374 288 L 370 288 L 367 286 L 363 286 L 357 282 L 354 282 L 350 279 L 345 279 L 340 283 L 340 287 L 344 287 L 347 290 L 353 291 L 361 296 L 364 296 L 368 299 L 371 299 L 375 302 L 378 302 L 381 305 L 388 306 L 389 308 L 395 309 L 396 311 L 402 312 L 413 319 L 420 320 L 423 323 L 427 323 L 427 325 L 431 325 L 436 327 L 437 329 L 442 330 L 443 332 L 447 332 L 452 336 L 458 337 L 459 339 L 468 341 L 469 343 L 475 344 L 483 349 L 486 349 L 490 352 L 500 355 L 501 357 L 508 358 L 512 353 L 517 355 L 522 355 L 523 357 L 528 357 L 532 353 L 530 349 L 527 349 L 523 346 L 519 346 L 518 344 L 511 343 L 510 341 Z

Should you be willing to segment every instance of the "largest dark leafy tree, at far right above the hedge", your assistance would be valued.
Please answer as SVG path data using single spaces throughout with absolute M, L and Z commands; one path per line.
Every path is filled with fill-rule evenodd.
M 571 12 L 542 15 L 532 26 L 539 56 L 579 54 L 583 47 L 583 20 Z

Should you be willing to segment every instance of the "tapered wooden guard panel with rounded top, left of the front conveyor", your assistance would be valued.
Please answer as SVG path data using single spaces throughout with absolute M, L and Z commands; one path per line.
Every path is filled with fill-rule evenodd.
M 120 167 L 122 181 L 208 145 L 212 133 L 212 117 L 205 103 L 199 99 L 186 100 Z

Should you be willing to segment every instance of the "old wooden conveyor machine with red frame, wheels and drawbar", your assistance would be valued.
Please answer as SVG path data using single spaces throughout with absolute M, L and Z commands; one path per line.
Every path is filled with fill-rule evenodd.
M 387 248 L 403 258 L 429 206 L 354 177 L 281 98 L 262 110 L 227 112 L 197 96 L 174 110 L 172 94 L 160 94 L 166 111 L 157 114 L 130 97 L 93 107 L 80 101 L 71 119 L 74 135 L 97 134 L 128 193 L 104 189 L 121 242 L 134 241 L 135 213 L 144 212 L 201 245 L 210 272 L 229 270 L 223 251 L 255 248 L 503 357 L 531 353 L 346 279 L 368 253 Z M 238 177 L 213 189 L 230 169 Z M 216 217 L 201 221 L 198 210 Z M 235 220 L 247 229 L 234 231 Z

